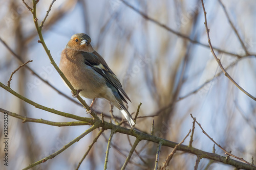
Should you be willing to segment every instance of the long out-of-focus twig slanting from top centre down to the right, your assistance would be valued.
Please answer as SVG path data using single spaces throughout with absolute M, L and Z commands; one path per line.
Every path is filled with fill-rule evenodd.
M 147 19 L 147 20 L 150 20 L 150 21 L 156 23 L 156 25 L 158 25 L 158 26 L 164 28 L 165 30 L 167 30 L 167 31 L 169 31 L 169 32 L 171 32 L 171 33 L 173 33 L 173 34 L 175 34 L 175 35 L 181 37 L 181 38 L 187 39 L 187 40 L 189 40 L 191 43 L 199 44 L 199 45 L 202 45 L 202 46 L 205 46 L 205 47 L 209 47 L 208 44 L 204 44 L 204 43 L 201 43 L 201 42 L 199 42 L 199 41 L 197 41 L 197 40 L 191 39 L 190 37 L 186 36 L 185 34 L 179 33 L 179 32 L 177 32 L 177 31 L 175 31 L 175 30 L 173 30 L 173 29 L 167 27 L 167 26 L 164 25 L 163 23 L 160 23 L 159 21 L 157 21 L 157 20 L 155 20 L 155 19 L 153 19 L 153 18 L 147 16 L 147 14 L 145 14 L 145 13 L 141 12 L 140 10 L 136 9 L 135 7 L 133 7 L 132 5 L 130 5 L 129 3 L 127 3 L 126 1 L 124 1 L 124 0 L 120 0 L 120 1 L 121 1 L 123 4 L 125 4 L 127 7 L 133 9 L 135 12 L 137 12 L 138 14 L 140 14 L 143 18 L 145 18 L 145 19 Z M 220 48 L 217 48 L 217 47 L 213 47 L 213 48 L 214 48 L 215 50 L 217 50 L 218 52 L 220 52 L 220 53 L 228 54 L 228 55 L 230 55 L 230 56 L 236 56 L 236 57 L 238 57 L 238 58 L 244 57 L 244 56 L 240 56 L 240 55 L 238 55 L 238 54 L 226 52 L 226 51 L 221 50 Z

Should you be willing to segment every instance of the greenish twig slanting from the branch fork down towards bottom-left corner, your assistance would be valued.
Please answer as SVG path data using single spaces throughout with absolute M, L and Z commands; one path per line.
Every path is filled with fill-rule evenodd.
M 98 126 L 93 125 L 91 128 L 89 128 L 88 130 L 86 130 L 85 132 L 83 132 L 81 135 L 79 135 L 77 138 L 75 138 L 74 140 L 72 140 L 71 142 L 69 142 L 68 144 L 64 145 L 60 150 L 58 150 L 57 152 L 42 158 L 41 160 L 30 164 L 29 166 L 23 168 L 22 170 L 27 170 L 30 169 L 31 167 L 34 167 L 40 163 L 46 162 L 49 159 L 54 158 L 55 156 L 57 156 L 58 154 L 60 154 L 61 152 L 65 151 L 66 149 L 68 149 L 72 144 L 74 144 L 75 142 L 79 141 L 81 138 L 83 138 L 84 136 L 86 136 L 87 134 L 89 134 L 90 132 L 92 132 L 93 130 L 97 129 Z

